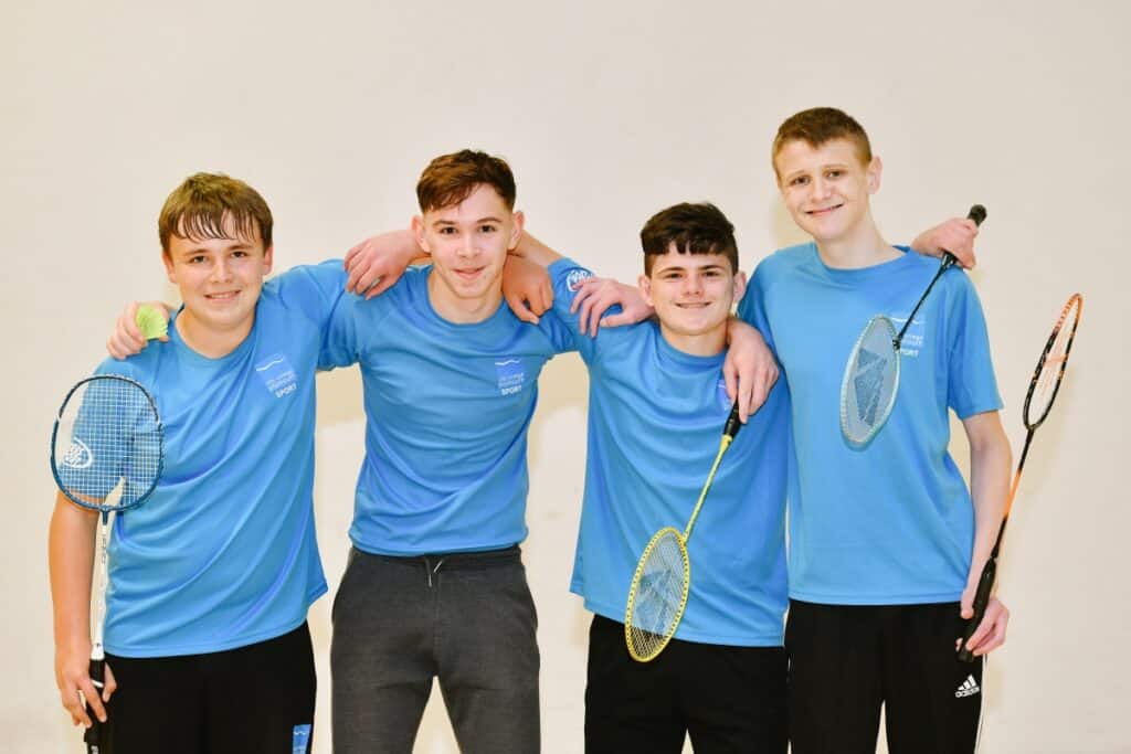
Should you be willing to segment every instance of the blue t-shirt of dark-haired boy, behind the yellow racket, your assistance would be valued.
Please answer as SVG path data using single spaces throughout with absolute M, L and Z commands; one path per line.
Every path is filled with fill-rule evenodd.
M 589 367 L 585 501 L 570 590 L 587 609 L 623 622 L 645 545 L 665 526 L 683 530 L 718 452 L 731 411 L 725 354 L 677 350 L 651 320 L 589 338 L 569 313 L 589 271 L 563 259 L 550 274 L 554 311 Z M 775 388 L 727 450 L 688 541 L 691 591 L 676 639 L 782 644 L 787 427 L 787 397 Z

